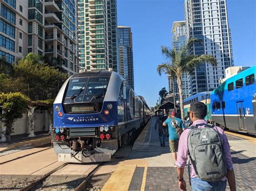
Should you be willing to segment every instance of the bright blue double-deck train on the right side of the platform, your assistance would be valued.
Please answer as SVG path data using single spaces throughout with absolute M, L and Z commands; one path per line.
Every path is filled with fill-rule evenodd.
M 218 88 L 193 95 L 184 100 L 184 115 L 194 101 L 207 105 L 208 122 L 222 128 L 256 132 L 256 66 L 248 68 L 224 81 Z

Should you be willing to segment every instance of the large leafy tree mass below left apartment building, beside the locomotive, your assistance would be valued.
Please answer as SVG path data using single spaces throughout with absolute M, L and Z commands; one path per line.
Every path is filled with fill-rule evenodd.
M 55 67 L 48 66 L 41 56 L 29 53 L 13 66 L 10 74 L 0 74 L 2 92 L 21 92 L 32 101 L 51 100 L 58 93 L 67 75 Z

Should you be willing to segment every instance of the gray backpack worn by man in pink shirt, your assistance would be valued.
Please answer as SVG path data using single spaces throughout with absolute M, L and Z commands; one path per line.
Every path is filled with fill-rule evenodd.
M 197 126 L 205 128 L 197 128 Z M 211 124 L 190 126 L 187 146 L 188 155 L 199 179 L 207 182 L 220 181 L 226 175 L 226 161 L 219 133 Z

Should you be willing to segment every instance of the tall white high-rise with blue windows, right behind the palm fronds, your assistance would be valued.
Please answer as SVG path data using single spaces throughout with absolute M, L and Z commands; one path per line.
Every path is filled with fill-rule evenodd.
M 186 35 L 201 40 L 191 53 L 211 54 L 218 66 L 201 63 L 192 78 L 192 94 L 213 90 L 224 77 L 225 68 L 233 66 L 231 32 L 228 26 L 226 0 L 185 0 Z

